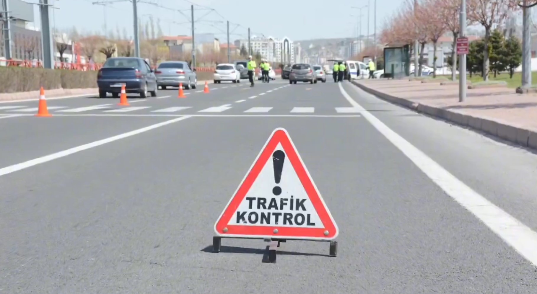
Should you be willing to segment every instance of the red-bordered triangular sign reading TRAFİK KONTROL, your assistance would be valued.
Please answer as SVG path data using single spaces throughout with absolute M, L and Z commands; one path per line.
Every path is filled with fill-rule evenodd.
M 217 236 L 332 240 L 338 227 L 287 130 L 278 128 L 214 225 Z

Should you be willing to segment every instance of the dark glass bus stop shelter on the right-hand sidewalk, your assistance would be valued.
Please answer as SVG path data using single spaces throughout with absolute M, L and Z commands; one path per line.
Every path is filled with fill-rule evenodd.
M 410 75 L 410 45 L 388 44 L 384 48 L 384 77 L 403 78 Z

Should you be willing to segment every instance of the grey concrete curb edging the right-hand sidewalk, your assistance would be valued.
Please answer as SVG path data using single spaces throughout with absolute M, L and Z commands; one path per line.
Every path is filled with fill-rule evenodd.
M 537 149 L 537 131 L 525 129 L 521 126 L 513 126 L 512 124 L 499 120 L 477 117 L 459 112 L 449 111 L 443 108 L 419 104 L 408 99 L 403 99 L 386 93 L 382 93 L 380 91 L 376 91 L 354 81 L 352 81 L 351 83 L 382 100 L 403 106 L 412 111 L 438 117 L 439 119 L 453 122 L 455 124 L 458 124 L 459 126 L 469 127 L 474 130 L 483 131 L 484 133 L 504 139 L 514 144 L 518 144 L 532 149 Z

